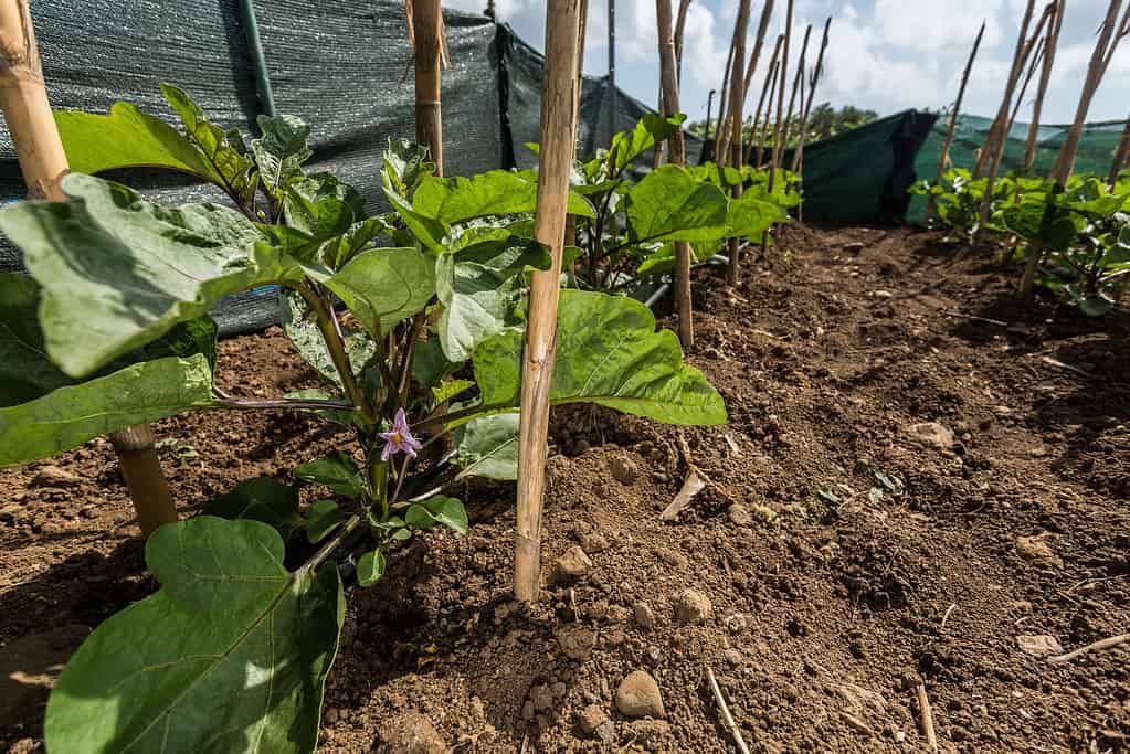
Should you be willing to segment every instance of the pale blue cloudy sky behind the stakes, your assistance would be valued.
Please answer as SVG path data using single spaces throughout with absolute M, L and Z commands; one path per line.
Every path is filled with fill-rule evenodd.
M 499 20 L 525 42 L 544 49 L 546 0 L 495 0 Z M 486 0 L 443 0 L 445 7 L 480 12 Z M 772 44 L 784 29 L 786 0 L 776 0 L 766 51 L 750 87 L 747 111 L 756 107 Z M 809 60 L 815 61 L 824 20 L 832 16 L 825 73 L 816 102 L 855 105 L 887 115 L 919 107 L 938 109 L 957 96 L 962 69 L 982 20 L 985 37 L 966 89 L 963 112 L 992 116 L 1003 96 L 1025 0 L 796 0 L 790 69 L 805 27 L 814 26 Z M 672 0 L 678 7 L 678 0 Z M 687 14 L 683 53 L 681 108 L 690 120 L 706 116 L 707 93 L 722 86 L 737 0 L 693 0 Z M 1036 14 L 1044 2 L 1037 1 Z M 1075 119 L 1079 90 L 1094 50 L 1095 33 L 1107 0 L 1070 0 L 1060 35 L 1055 68 L 1044 102 L 1044 123 Z M 763 2 L 754 0 L 750 36 Z M 584 69 L 608 72 L 608 0 L 589 0 Z M 811 65 L 811 62 L 809 63 Z M 790 77 L 791 78 L 791 77 Z M 1037 73 L 1038 79 L 1038 73 Z M 659 88 L 659 53 L 654 0 L 616 0 L 616 84 L 654 107 Z M 791 81 L 790 81 L 791 85 Z M 1036 80 L 1017 121 L 1026 121 Z M 718 97 L 714 111 L 718 113 Z M 1124 120 L 1130 115 L 1130 41 L 1123 41 L 1088 111 L 1088 121 Z

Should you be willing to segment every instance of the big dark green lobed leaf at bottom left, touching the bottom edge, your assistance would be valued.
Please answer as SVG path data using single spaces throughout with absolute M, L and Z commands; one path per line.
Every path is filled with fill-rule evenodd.
M 46 747 L 313 752 L 341 581 L 332 564 L 292 573 L 282 558 L 259 521 L 201 516 L 157 529 L 146 560 L 163 588 L 71 657 L 47 703 Z

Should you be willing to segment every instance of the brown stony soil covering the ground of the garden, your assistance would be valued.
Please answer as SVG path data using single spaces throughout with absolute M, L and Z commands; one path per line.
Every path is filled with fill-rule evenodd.
M 737 290 L 704 275 L 692 361 L 730 423 L 558 412 L 547 567 L 581 545 L 589 572 L 516 607 L 513 491 L 464 490 L 468 536 L 428 534 L 376 588 L 350 590 L 322 751 L 446 751 L 406 743 L 429 740 L 427 721 L 457 752 L 736 751 L 707 667 L 754 751 L 923 751 L 919 683 L 944 751 L 1127 747 L 1130 645 L 1052 665 L 1019 637 L 1069 650 L 1130 630 L 1130 321 L 1017 307 L 1014 270 L 931 242 L 797 227 Z M 312 382 L 278 334 L 223 343 L 220 375 L 249 395 Z M 944 429 L 910 429 L 925 422 Z M 284 414 L 157 429 L 180 442 L 165 459 L 185 512 L 333 442 Z M 664 524 L 680 438 L 710 482 Z M 76 479 L 42 485 L 47 465 Z M 104 441 L 0 484 L 0 654 L 50 649 L 25 651 L 26 686 L 76 625 L 155 585 Z M 711 603 L 701 623 L 678 610 L 687 589 Z M 666 721 L 617 711 L 637 669 Z M 0 704 L 0 745 L 34 748 L 36 703 Z M 581 729 L 590 705 L 611 717 L 610 746 Z

